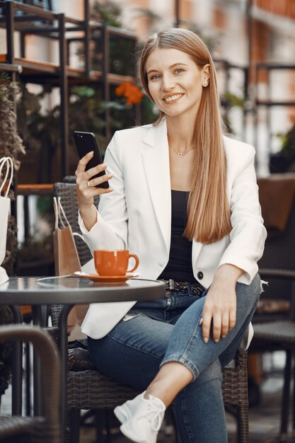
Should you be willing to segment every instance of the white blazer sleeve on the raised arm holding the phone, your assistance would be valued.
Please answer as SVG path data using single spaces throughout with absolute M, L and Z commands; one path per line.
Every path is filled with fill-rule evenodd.
M 127 245 L 128 214 L 125 198 L 125 183 L 122 173 L 122 153 L 117 146 L 117 134 L 112 137 L 105 151 L 112 192 L 100 196 L 97 222 L 88 231 L 79 213 L 79 226 L 91 251 L 94 249 L 125 249 Z

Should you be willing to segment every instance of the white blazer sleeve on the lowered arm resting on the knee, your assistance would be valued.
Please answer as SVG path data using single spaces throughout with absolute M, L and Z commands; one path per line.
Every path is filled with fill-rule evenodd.
M 247 149 L 241 154 L 240 168 L 233 177 L 230 194 L 231 225 L 229 246 L 221 257 L 220 265 L 230 263 L 245 271 L 243 282 L 250 284 L 258 272 L 267 231 L 263 226 L 258 185 L 254 167 L 255 149 Z M 241 161 L 242 157 L 242 161 Z M 242 163 L 242 164 L 241 164 Z M 231 165 L 229 165 L 229 174 Z

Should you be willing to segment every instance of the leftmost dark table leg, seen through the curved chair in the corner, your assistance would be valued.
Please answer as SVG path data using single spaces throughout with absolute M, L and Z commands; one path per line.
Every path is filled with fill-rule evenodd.
M 23 316 L 19 306 L 9 305 L 13 314 L 13 323 L 23 323 Z M 21 415 L 23 401 L 23 343 L 19 340 L 13 341 L 12 359 L 12 383 L 11 383 L 11 413 Z

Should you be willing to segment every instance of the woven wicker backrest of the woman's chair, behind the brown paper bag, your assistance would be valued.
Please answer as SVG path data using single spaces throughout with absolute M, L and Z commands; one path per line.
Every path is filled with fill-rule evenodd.
M 76 183 L 54 183 L 54 194 L 60 197 L 62 207 L 66 212 L 66 218 L 69 220 L 73 232 L 81 234 L 78 224 L 78 205 L 76 202 Z M 98 206 L 99 197 L 95 198 L 95 205 Z M 62 226 L 59 226 L 62 227 Z M 81 265 L 91 260 L 92 255 L 86 243 L 79 237 L 74 236 L 76 248 L 80 258 Z

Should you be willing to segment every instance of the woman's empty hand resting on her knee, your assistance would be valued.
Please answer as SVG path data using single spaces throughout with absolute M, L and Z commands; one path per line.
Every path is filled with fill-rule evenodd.
M 226 337 L 236 325 L 236 282 L 243 270 L 233 265 L 221 265 L 206 295 L 202 312 L 202 335 L 209 341 L 212 327 L 213 340 L 217 343 Z

